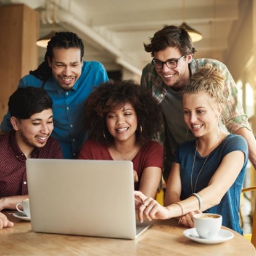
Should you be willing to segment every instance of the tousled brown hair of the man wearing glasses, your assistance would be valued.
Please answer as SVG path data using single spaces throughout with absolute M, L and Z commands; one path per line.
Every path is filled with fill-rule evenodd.
M 152 57 L 154 57 L 155 52 L 162 51 L 167 47 L 176 47 L 183 55 L 196 52 L 188 31 L 175 25 L 163 27 L 155 32 L 150 40 L 151 43 L 144 44 L 144 49 L 146 52 L 151 52 Z

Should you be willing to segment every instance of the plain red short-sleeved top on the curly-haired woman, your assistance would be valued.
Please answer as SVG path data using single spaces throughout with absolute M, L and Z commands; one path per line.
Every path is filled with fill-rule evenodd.
M 83 144 L 78 159 L 114 160 L 106 146 L 102 146 L 102 144 L 91 139 Z M 139 181 L 134 183 L 134 189 L 138 190 L 142 172 L 145 168 L 159 167 L 163 170 L 163 147 L 156 141 L 149 141 L 141 147 L 131 161 L 134 170 L 138 173 Z

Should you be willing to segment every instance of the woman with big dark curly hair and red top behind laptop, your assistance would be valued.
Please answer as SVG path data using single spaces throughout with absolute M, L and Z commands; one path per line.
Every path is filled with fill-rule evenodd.
M 89 139 L 78 159 L 131 160 L 134 189 L 155 197 L 163 148 L 155 138 L 160 109 L 149 91 L 132 80 L 104 83 L 85 103 Z

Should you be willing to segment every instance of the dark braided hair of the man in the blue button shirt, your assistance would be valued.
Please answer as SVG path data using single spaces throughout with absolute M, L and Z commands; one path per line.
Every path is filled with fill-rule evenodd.
M 78 48 L 81 51 L 80 58 L 81 61 L 84 55 L 84 45 L 83 41 L 72 32 L 57 32 L 56 35 L 52 36 L 51 40 L 47 44 L 46 54 L 44 56 L 44 62 L 42 62 L 36 70 L 30 71 L 30 74 L 36 76 L 37 78 L 47 81 L 51 75 L 52 70 L 48 65 L 47 58 L 52 60 L 53 50 L 57 49 L 70 49 Z

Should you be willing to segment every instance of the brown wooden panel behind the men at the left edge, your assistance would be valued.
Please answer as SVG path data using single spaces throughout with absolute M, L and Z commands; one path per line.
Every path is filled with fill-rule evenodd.
M 0 122 L 22 76 L 38 67 L 39 12 L 24 4 L 0 6 Z

